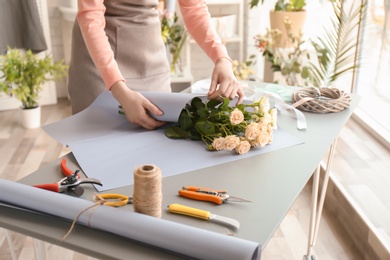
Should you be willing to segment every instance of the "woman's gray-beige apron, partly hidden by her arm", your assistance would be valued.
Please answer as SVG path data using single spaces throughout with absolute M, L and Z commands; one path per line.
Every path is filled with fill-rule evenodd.
M 171 91 L 169 63 L 155 0 L 104 1 L 105 32 L 129 88 Z M 73 27 L 68 91 L 72 113 L 87 108 L 106 87 L 93 63 L 77 20 Z

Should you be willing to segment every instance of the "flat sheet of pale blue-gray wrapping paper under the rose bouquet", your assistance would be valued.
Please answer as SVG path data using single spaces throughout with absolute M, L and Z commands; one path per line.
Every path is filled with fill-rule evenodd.
M 194 97 L 189 93 L 143 94 L 164 111 L 167 121 L 177 120 L 181 109 Z M 118 103 L 109 92 L 103 92 L 81 113 L 44 129 L 71 147 L 88 177 L 102 181 L 103 187 L 96 187 L 99 191 L 133 184 L 134 169 L 144 164 L 156 165 L 167 177 L 302 143 L 278 129 L 271 145 L 247 154 L 209 152 L 201 141 L 173 140 L 165 136 L 164 129 L 146 131 L 131 125 L 118 114 Z

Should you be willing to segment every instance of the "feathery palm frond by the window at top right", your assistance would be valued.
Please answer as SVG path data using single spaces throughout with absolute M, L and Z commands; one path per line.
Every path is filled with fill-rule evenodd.
M 318 63 L 311 63 L 310 72 L 315 86 L 328 87 L 339 76 L 355 71 L 360 30 L 366 4 L 354 5 L 346 12 L 343 1 L 332 1 L 333 26 L 324 28 L 322 36 L 312 40 L 316 49 Z

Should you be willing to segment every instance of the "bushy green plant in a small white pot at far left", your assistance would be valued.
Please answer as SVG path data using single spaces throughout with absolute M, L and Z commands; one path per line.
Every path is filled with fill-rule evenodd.
M 40 126 L 39 94 L 43 84 L 66 75 L 63 61 L 53 62 L 50 55 L 40 58 L 31 50 L 11 49 L 0 56 L 0 92 L 21 103 L 22 124 L 26 128 Z M 35 116 L 33 116 L 35 115 Z

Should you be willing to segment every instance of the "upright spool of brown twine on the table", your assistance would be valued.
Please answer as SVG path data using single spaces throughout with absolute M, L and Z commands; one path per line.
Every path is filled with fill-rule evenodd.
M 142 165 L 134 170 L 134 211 L 161 218 L 161 171 L 154 165 Z

